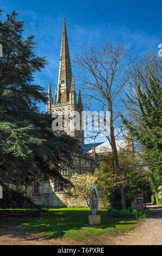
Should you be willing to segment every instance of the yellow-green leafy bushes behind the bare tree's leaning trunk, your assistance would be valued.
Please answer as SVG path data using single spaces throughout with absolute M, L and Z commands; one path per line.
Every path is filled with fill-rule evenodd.
M 146 170 L 142 166 L 139 154 L 132 151 L 120 151 L 120 169 L 122 170 L 122 183 L 126 196 L 126 206 L 130 206 L 130 200 L 135 198 L 142 191 L 150 190 Z M 101 169 L 95 172 L 96 185 L 99 196 L 107 198 L 113 208 L 121 209 L 121 193 L 118 186 L 119 180 L 114 172 L 113 155 L 109 153 L 101 161 Z M 142 175 L 141 182 L 139 176 Z M 145 178 L 144 178 L 145 175 Z

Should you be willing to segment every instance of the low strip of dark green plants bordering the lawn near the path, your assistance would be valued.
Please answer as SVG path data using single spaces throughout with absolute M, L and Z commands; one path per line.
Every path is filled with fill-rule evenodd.
M 150 215 L 147 210 L 136 210 L 127 208 L 118 210 L 118 209 L 109 209 L 108 217 L 116 217 L 116 218 L 149 218 Z

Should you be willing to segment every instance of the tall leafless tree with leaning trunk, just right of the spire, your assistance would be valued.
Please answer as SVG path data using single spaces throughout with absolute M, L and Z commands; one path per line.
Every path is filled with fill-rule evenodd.
M 82 47 L 82 53 L 78 53 L 75 63 L 79 69 L 79 80 L 82 84 L 83 96 L 95 101 L 95 109 L 99 111 L 108 111 L 109 129 L 104 131 L 104 136 L 108 139 L 116 166 L 116 174 L 119 178 L 121 191 L 122 209 L 126 209 L 126 199 L 122 184 L 122 170 L 120 169 L 119 158 L 117 154 L 114 124 L 117 118 L 117 104 L 119 103 L 119 94 L 126 83 L 123 72 L 126 68 L 128 54 L 119 43 L 113 46 L 111 41 L 106 41 L 102 46 L 95 43 L 91 47 Z M 96 102 L 98 102 L 96 104 Z M 90 106 L 90 104 L 89 104 Z M 96 133 L 96 136 L 99 132 Z

